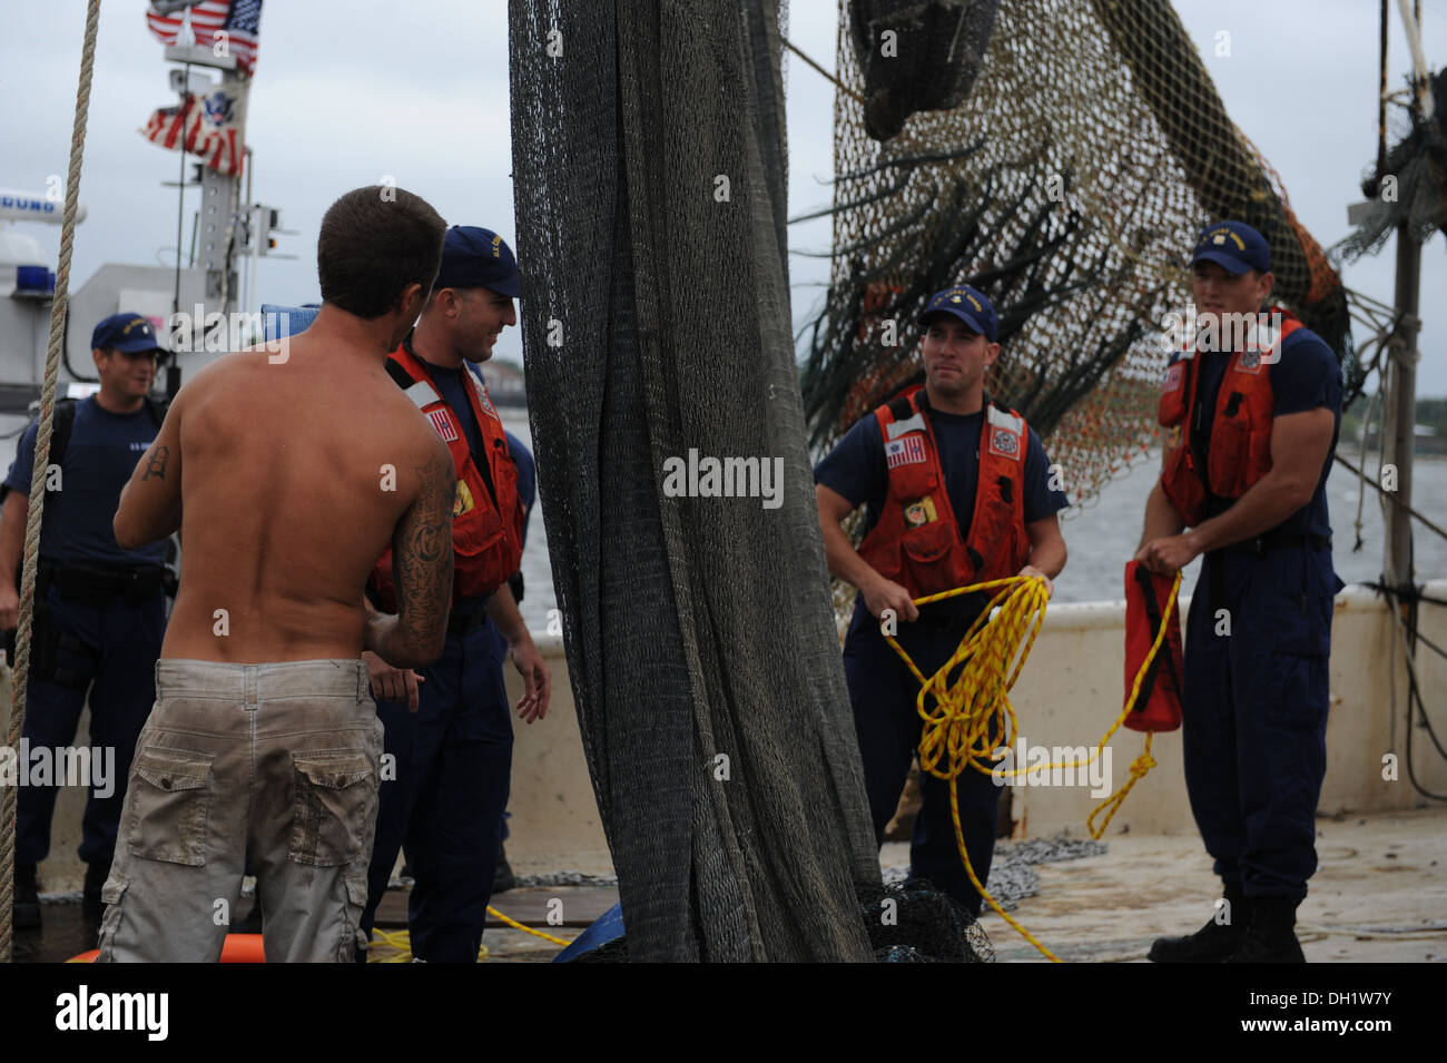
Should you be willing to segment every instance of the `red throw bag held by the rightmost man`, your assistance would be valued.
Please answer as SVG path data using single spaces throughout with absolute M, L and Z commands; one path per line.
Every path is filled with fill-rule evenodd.
M 1181 726 L 1181 610 L 1171 600 L 1174 580 L 1152 573 L 1139 561 L 1126 563 L 1126 697 L 1160 632 L 1160 618 L 1171 605 L 1171 620 L 1150 667 L 1140 680 L 1136 703 L 1126 713 L 1132 730 L 1175 730 Z

